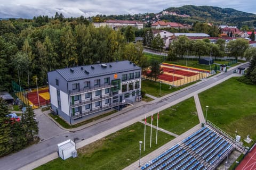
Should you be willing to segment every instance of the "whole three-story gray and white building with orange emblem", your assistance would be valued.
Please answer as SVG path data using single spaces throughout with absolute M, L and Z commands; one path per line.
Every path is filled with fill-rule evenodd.
M 129 61 L 48 72 L 52 110 L 70 124 L 141 99 L 141 68 Z

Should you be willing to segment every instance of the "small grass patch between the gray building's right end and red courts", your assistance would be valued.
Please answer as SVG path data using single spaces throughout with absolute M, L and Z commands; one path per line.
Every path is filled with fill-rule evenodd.
M 185 84 L 183 86 L 179 86 L 179 87 L 172 87 L 170 89 L 170 85 L 168 84 L 161 84 L 161 95 L 160 95 L 160 84 L 157 81 L 153 81 L 153 80 L 142 80 L 141 81 L 141 89 L 146 91 L 146 94 L 155 96 L 155 97 L 162 97 L 165 96 L 167 94 L 170 94 L 171 92 L 180 90 L 182 88 L 185 88 L 187 86 L 190 86 L 191 84 L 194 84 L 198 81 L 194 81 L 188 84 Z

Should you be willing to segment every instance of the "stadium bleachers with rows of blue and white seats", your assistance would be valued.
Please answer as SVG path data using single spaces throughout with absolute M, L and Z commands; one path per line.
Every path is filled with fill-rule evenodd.
M 213 132 L 211 128 L 201 128 L 179 144 L 171 147 L 141 169 L 207 169 L 225 154 L 232 145 Z

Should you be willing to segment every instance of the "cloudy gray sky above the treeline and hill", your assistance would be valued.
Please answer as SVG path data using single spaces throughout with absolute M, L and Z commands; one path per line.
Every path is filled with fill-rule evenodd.
M 158 13 L 168 7 L 209 5 L 256 14 L 255 0 L 0 0 L 0 18 L 33 18 L 38 15 L 94 16 L 97 14 Z

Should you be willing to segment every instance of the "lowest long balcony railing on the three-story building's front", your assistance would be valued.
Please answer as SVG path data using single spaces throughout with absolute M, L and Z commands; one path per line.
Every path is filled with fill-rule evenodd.
M 119 103 L 114 103 L 114 104 L 109 104 L 108 106 L 103 106 L 101 108 L 98 108 L 98 109 L 94 109 L 92 111 L 83 111 L 81 112 L 81 114 L 79 115 L 73 115 L 71 116 L 72 119 L 77 119 L 77 118 L 81 118 L 81 117 L 84 117 L 84 116 L 87 116 L 87 115 L 90 115 L 90 114 L 93 114 L 93 113 L 97 113 L 97 112 L 100 112 L 100 111 L 103 111 L 103 110 L 106 110 L 106 109 L 109 109 L 109 108 L 113 108 L 113 107 L 116 107 L 116 106 L 120 106 L 120 105 L 125 105 L 125 104 L 130 104 L 132 105 L 133 104 L 133 101 L 131 100 L 125 100 L 125 102 L 119 102 Z

